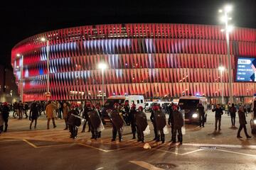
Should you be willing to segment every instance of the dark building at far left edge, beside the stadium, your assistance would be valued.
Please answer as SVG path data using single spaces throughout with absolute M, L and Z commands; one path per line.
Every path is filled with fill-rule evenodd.
M 14 103 L 19 98 L 13 70 L 0 64 L 0 102 Z

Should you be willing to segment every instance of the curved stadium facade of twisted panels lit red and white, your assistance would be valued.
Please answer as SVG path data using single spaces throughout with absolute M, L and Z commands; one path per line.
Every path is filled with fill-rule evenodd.
M 221 26 L 191 24 L 112 24 L 53 30 L 19 42 L 11 51 L 16 82 L 21 79 L 23 100 L 46 100 L 49 41 L 50 93 L 53 100 L 102 98 L 104 61 L 107 96 L 142 94 L 145 98 L 178 98 L 200 94 L 220 98 L 220 71 L 228 68 L 225 33 Z M 237 58 L 256 57 L 256 30 L 235 28 L 230 33 L 233 77 Z M 236 80 L 236 79 L 235 79 Z M 223 72 L 224 96 L 228 96 L 228 71 Z M 252 82 L 233 82 L 233 95 L 256 92 Z

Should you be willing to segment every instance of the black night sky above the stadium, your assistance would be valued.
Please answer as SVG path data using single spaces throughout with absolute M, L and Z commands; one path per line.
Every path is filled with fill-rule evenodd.
M 233 4 L 232 23 L 256 28 L 256 0 L 31 1 L 1 4 L 0 64 L 11 67 L 11 48 L 37 33 L 104 23 L 198 23 L 219 25 L 218 8 Z M 40 3 L 40 5 L 38 4 Z

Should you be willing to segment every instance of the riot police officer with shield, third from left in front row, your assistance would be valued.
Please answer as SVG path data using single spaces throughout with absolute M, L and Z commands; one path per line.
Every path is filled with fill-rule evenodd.
M 119 111 L 119 103 L 114 103 L 114 110 L 109 113 L 110 120 L 112 122 L 112 141 L 116 140 L 117 132 L 119 137 L 119 142 L 122 141 L 122 126 L 124 125 L 124 119 L 122 118 L 122 113 Z

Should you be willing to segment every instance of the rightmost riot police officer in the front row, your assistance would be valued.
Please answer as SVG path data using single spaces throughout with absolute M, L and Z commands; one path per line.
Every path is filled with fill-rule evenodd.
M 178 131 L 178 142 L 182 145 L 182 132 L 181 128 L 183 127 L 184 120 L 183 120 L 183 115 L 180 111 L 178 111 L 178 106 L 174 105 L 173 110 L 174 110 L 174 135 L 172 136 L 172 142 L 176 142 L 176 134 Z

